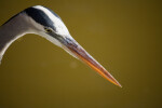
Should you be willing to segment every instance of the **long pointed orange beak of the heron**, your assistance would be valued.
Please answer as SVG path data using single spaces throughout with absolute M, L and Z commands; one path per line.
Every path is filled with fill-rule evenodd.
M 64 49 L 70 51 L 72 55 L 89 65 L 92 69 L 96 70 L 100 76 L 110 81 L 111 83 L 120 86 L 121 84 L 98 63 L 96 62 L 76 40 L 66 38 Z

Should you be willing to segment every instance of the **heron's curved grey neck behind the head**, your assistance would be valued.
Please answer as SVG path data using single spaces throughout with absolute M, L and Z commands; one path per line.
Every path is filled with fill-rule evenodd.
M 16 15 L 0 27 L 0 62 L 10 44 L 26 33 L 27 27 L 22 17 Z

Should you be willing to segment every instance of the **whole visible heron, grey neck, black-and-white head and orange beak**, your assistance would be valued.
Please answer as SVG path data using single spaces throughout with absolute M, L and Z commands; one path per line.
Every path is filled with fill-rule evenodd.
M 81 59 L 108 81 L 121 84 L 97 63 L 69 33 L 67 27 L 52 10 L 42 5 L 28 8 L 0 27 L 0 60 L 12 42 L 26 33 L 36 33 L 63 48 Z

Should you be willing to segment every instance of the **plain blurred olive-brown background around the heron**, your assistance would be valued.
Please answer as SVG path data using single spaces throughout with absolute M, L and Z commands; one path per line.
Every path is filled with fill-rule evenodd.
M 160 0 L 0 0 L 0 25 L 37 4 L 56 12 L 123 87 L 26 35 L 0 65 L 0 108 L 162 108 Z

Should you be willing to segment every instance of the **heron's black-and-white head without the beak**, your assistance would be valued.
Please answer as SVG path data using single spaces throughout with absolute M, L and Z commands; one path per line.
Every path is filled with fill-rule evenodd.
M 25 10 L 29 16 L 33 33 L 46 38 L 52 43 L 62 46 L 66 38 L 71 38 L 60 17 L 52 10 L 36 5 Z

